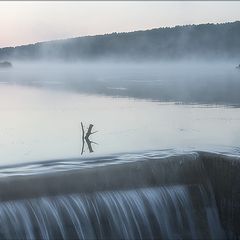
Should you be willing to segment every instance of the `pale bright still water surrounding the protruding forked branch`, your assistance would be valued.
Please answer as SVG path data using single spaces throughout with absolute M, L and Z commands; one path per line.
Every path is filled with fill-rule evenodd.
M 240 109 L 0 85 L 0 164 L 155 149 L 238 149 Z M 81 155 L 93 124 L 93 153 Z

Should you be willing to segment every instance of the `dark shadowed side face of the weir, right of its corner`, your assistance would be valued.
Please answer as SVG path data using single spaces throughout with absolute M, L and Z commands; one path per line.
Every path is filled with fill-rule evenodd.
M 222 226 L 231 239 L 240 239 L 240 157 L 200 153 L 210 180 Z

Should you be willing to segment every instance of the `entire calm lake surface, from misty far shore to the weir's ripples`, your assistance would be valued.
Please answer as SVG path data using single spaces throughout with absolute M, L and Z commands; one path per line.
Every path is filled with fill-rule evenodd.
M 0 70 L 1 164 L 164 148 L 238 148 L 236 62 L 13 62 Z

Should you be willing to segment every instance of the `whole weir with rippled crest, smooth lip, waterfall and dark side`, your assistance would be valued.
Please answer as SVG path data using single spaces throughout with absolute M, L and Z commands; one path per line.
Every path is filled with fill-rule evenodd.
M 2 167 L 0 237 L 239 239 L 239 160 L 151 152 Z

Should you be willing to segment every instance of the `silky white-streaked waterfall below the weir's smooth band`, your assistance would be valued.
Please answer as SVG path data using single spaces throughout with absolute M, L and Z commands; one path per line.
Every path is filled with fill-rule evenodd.
M 221 239 L 224 234 L 204 186 L 172 185 L 2 202 L 0 238 Z

